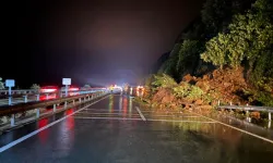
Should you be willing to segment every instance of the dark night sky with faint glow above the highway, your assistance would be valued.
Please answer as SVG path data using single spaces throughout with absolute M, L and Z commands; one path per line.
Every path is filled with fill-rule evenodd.
M 26 0 L 9 5 L 0 76 L 17 85 L 134 82 L 169 51 L 203 0 Z M 8 41 L 9 40 L 9 41 Z M 7 53 L 5 52 L 5 53 Z

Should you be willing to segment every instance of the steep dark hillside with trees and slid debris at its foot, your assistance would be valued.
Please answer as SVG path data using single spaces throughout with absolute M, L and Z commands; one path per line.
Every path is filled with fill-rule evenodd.
M 207 0 L 158 73 L 146 79 L 152 104 L 210 109 L 273 106 L 273 1 Z

